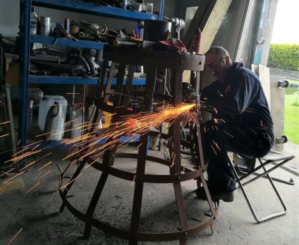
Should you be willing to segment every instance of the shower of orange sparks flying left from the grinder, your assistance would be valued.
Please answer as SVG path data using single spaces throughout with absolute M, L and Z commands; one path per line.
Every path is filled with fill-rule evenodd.
M 195 110 L 194 110 L 195 109 Z M 94 162 L 99 160 L 102 157 L 102 153 L 104 153 L 106 150 L 111 150 L 114 147 L 118 146 L 126 146 L 128 143 L 133 142 L 136 138 L 136 135 L 144 135 L 147 134 L 152 128 L 157 128 L 159 127 L 162 123 L 165 123 L 166 125 L 163 126 L 171 126 L 172 123 L 174 122 L 181 122 L 181 123 L 190 123 L 191 121 L 195 122 L 195 124 L 198 125 L 198 114 L 196 113 L 196 104 L 182 104 L 178 107 L 174 107 L 172 105 L 166 105 L 166 106 L 155 106 L 153 109 L 153 112 L 141 112 L 141 113 L 136 113 L 133 115 L 128 115 L 128 116 L 122 116 L 121 120 L 119 120 L 116 123 L 110 123 L 109 128 L 106 129 L 103 133 L 100 135 L 97 135 L 94 132 L 88 132 L 84 133 L 82 136 L 73 138 L 73 139 L 65 139 L 62 141 L 59 141 L 56 144 L 65 144 L 69 146 L 70 148 L 73 148 L 72 152 L 70 152 L 68 155 L 66 155 L 64 159 L 73 157 L 73 156 L 80 156 L 80 159 L 85 158 L 87 156 L 94 155 L 94 161 L 90 163 L 87 167 L 91 166 Z M 75 120 L 74 120 L 75 121 Z M 74 122 L 73 121 L 73 122 Z M 184 122 L 183 122 L 184 121 Z M 70 123 L 70 122 L 69 122 Z M 92 127 L 92 126 L 97 126 L 98 123 L 93 123 L 93 124 L 88 124 L 87 122 L 84 123 L 78 123 L 73 126 L 73 129 L 82 129 L 85 132 L 87 131 L 86 128 Z M 70 131 L 65 130 L 65 131 Z M 52 132 L 47 132 L 43 134 L 39 134 L 38 136 L 42 135 L 54 135 L 56 134 L 55 131 Z M 121 136 L 123 135 L 133 135 L 132 137 L 127 137 L 125 139 L 125 142 L 119 143 L 119 140 Z M 8 162 L 16 163 L 20 161 L 24 157 L 28 156 L 33 156 L 36 155 L 37 153 L 42 152 L 44 149 L 53 147 L 54 144 L 51 144 L 51 146 L 47 147 L 40 147 L 40 144 L 44 142 L 45 140 L 41 139 L 38 140 L 37 142 L 34 142 L 32 144 L 26 145 L 21 151 L 19 151 L 17 154 L 14 154 Z M 105 142 L 105 143 L 103 143 Z M 172 143 L 172 137 L 168 139 L 168 144 Z M 142 143 L 140 143 L 137 147 L 136 150 L 140 148 Z M 22 152 L 20 154 L 20 152 Z M 52 152 L 49 152 L 42 157 L 39 158 L 45 158 Z M 172 152 L 172 164 L 170 167 L 174 165 L 174 159 L 175 159 L 175 154 Z M 25 172 L 25 168 L 29 167 L 34 164 L 37 160 L 29 163 L 27 166 L 23 167 L 21 169 L 21 172 L 16 174 L 15 176 L 9 178 L 7 181 L 10 181 L 12 178 L 15 178 L 16 176 L 22 174 Z M 46 166 L 49 166 L 51 162 L 46 163 L 45 165 L 41 166 L 38 170 L 43 170 Z M 23 170 L 23 171 L 22 171 Z M 37 176 L 34 177 L 33 180 L 37 179 L 40 180 L 47 174 L 49 174 L 51 170 L 48 170 L 46 172 L 40 172 L 38 173 Z M 82 174 L 82 173 L 81 173 Z M 68 184 L 60 187 L 60 189 L 66 188 L 70 183 L 75 181 L 78 177 L 81 176 L 78 175 L 76 178 L 71 180 Z M 135 176 L 136 177 L 136 176 Z M 135 181 L 135 177 L 132 183 L 132 186 Z M 4 183 L 5 183 L 4 182 Z M 39 184 L 40 182 L 38 182 Z M 33 186 L 31 189 L 36 187 L 38 184 Z M 30 189 L 30 190 L 31 190 Z M 30 191 L 29 190 L 29 191 Z M 28 191 L 28 192 L 29 192 Z

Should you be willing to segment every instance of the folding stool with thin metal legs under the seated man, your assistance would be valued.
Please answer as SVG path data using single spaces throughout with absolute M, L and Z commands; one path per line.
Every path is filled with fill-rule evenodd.
M 269 173 L 272 172 L 273 170 L 275 170 L 276 168 L 278 168 L 278 167 L 280 167 L 280 166 L 283 166 L 286 162 L 290 161 L 290 160 L 293 159 L 293 158 L 294 158 L 293 155 L 285 155 L 285 157 L 280 157 L 280 158 L 277 158 L 277 159 L 269 159 L 269 160 L 266 160 L 265 162 L 262 161 L 262 158 L 258 158 L 261 165 L 259 165 L 258 167 L 254 168 L 252 171 L 248 172 L 247 174 L 244 174 L 242 177 L 239 177 L 239 175 L 238 175 L 238 173 L 237 173 L 235 167 L 233 166 L 232 162 L 231 162 L 230 159 L 228 158 L 229 165 L 233 168 L 235 177 L 236 177 L 237 182 L 238 182 L 238 184 L 239 184 L 239 188 L 241 189 L 241 191 L 242 191 L 242 193 L 243 193 L 243 195 L 244 195 L 244 197 L 245 197 L 245 200 L 246 200 L 246 202 L 247 202 L 247 204 L 248 204 L 248 207 L 249 207 L 249 209 L 250 209 L 250 211 L 251 211 L 251 213 L 252 213 L 252 215 L 253 215 L 253 218 L 256 220 L 256 222 L 258 222 L 258 223 L 262 223 L 262 222 L 265 222 L 265 221 L 267 221 L 267 220 L 271 220 L 271 219 L 274 219 L 274 218 L 276 218 L 276 217 L 285 215 L 285 214 L 287 213 L 287 207 L 286 207 L 286 205 L 285 205 L 283 199 L 281 198 L 281 196 L 280 196 L 278 190 L 276 189 L 276 187 L 275 187 L 275 185 L 274 185 L 274 183 L 273 183 L 273 180 L 272 180 L 272 178 L 270 177 Z M 265 166 L 268 165 L 269 163 L 274 163 L 274 162 L 277 162 L 277 161 L 281 161 L 281 162 L 278 163 L 277 165 L 275 165 L 274 167 L 270 168 L 269 170 L 267 170 L 267 169 L 265 168 Z M 237 167 L 238 167 L 238 166 L 236 166 L 236 168 L 237 168 Z M 256 177 L 254 177 L 254 178 L 252 178 L 252 179 L 246 181 L 246 182 L 243 183 L 243 184 L 241 183 L 241 180 L 245 179 L 246 177 L 248 177 L 248 176 L 251 175 L 251 174 L 254 174 L 256 171 L 258 171 L 259 169 L 262 169 L 262 168 L 263 168 L 263 170 L 264 170 L 263 173 L 258 174 Z M 266 175 L 267 178 L 269 179 L 270 184 L 271 184 L 271 186 L 273 187 L 273 189 L 274 189 L 274 191 L 275 191 L 275 193 L 276 193 L 276 195 L 277 195 L 279 201 L 281 202 L 284 211 L 279 212 L 279 213 L 275 213 L 275 214 L 272 214 L 272 215 L 269 215 L 269 216 L 266 216 L 266 217 L 264 217 L 264 218 L 259 219 L 259 218 L 257 217 L 257 215 L 256 215 L 256 212 L 254 211 L 254 209 L 253 209 L 253 207 L 252 207 L 252 205 L 251 205 L 251 202 L 250 202 L 250 200 L 249 200 L 249 198 L 248 198 L 248 196 L 247 196 L 247 193 L 246 193 L 246 191 L 245 191 L 245 189 L 244 189 L 244 186 L 247 185 L 247 184 L 250 184 L 250 183 L 254 182 L 255 180 L 257 180 L 257 179 L 259 179 L 259 178 L 261 178 L 261 177 L 263 177 L 263 176 L 265 176 L 265 175 Z

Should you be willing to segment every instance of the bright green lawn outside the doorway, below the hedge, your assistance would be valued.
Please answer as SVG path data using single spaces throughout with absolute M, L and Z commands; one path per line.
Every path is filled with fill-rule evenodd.
M 285 95 L 285 135 L 290 142 L 299 144 L 299 94 Z

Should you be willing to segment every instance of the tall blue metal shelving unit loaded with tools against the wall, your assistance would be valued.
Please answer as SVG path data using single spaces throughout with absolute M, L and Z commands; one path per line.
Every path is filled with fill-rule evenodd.
M 29 76 L 30 43 L 54 44 L 55 37 L 30 35 L 30 12 L 31 5 L 67 10 L 72 12 L 87 13 L 92 15 L 105 16 L 110 18 L 140 21 L 145 19 L 162 20 L 164 0 L 160 0 L 159 15 L 132 11 L 122 8 L 101 6 L 94 3 L 80 0 L 20 0 L 20 21 L 19 35 L 20 43 L 20 68 L 19 68 L 19 126 L 18 138 L 20 147 L 26 144 L 27 128 L 27 105 L 28 105 L 28 84 L 97 84 L 98 78 L 82 77 L 52 77 L 52 76 Z M 73 41 L 67 38 L 59 38 L 55 45 L 71 46 L 81 48 L 103 49 L 106 43 L 95 41 L 78 40 Z M 107 80 L 106 80 L 107 81 Z M 115 80 L 113 83 L 115 84 Z M 126 80 L 124 80 L 124 84 Z M 134 79 L 133 85 L 144 85 L 145 79 Z M 22 167 L 22 165 L 21 165 Z

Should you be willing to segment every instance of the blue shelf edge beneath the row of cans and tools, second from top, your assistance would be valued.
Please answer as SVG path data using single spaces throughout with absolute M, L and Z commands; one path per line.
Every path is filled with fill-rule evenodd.
M 53 36 L 41 36 L 41 35 L 30 35 L 31 43 L 44 43 L 51 44 L 55 43 L 56 37 Z M 74 41 L 69 38 L 58 38 L 55 45 L 59 46 L 68 46 L 68 47 L 80 47 L 80 48 L 94 48 L 94 49 L 103 49 L 106 42 L 94 42 L 94 41 L 85 41 L 78 40 Z

